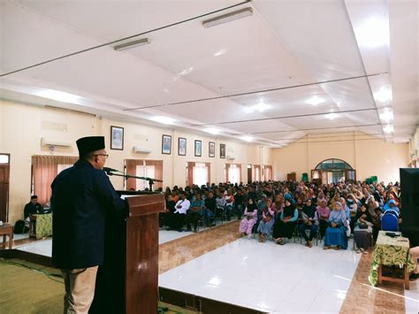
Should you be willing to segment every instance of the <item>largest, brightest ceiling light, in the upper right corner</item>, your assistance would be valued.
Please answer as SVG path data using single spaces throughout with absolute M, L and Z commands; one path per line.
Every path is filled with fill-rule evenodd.
M 366 20 L 360 27 L 354 29 L 358 45 L 367 48 L 388 46 L 390 32 L 388 20 L 372 18 Z

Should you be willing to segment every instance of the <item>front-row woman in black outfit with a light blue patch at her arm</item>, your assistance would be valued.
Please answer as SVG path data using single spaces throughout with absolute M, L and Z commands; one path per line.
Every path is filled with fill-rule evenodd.
M 277 223 L 273 228 L 273 240 L 277 244 L 284 245 L 284 238 L 291 239 L 298 219 L 298 210 L 292 202 L 292 199 L 286 198 L 286 206 L 281 212 Z

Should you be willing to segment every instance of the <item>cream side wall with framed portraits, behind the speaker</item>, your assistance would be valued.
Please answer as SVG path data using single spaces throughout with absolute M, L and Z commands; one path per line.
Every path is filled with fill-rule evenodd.
M 110 149 L 110 126 L 124 127 L 124 150 Z M 171 155 L 163 155 L 162 135 L 171 135 Z M 0 153 L 11 154 L 9 221 L 14 223 L 23 218 L 23 207 L 31 193 L 31 157 L 33 155 L 78 156 L 75 142 L 83 136 L 103 135 L 110 154 L 107 166 L 124 169 L 124 159 L 145 158 L 164 161 L 164 187 L 186 184 L 188 161 L 211 164 L 211 182 L 223 182 L 225 163 L 242 165 L 241 178 L 247 182 L 247 164 L 269 164 L 271 149 L 259 145 L 232 142 L 215 136 L 202 136 L 174 131 L 170 126 L 154 127 L 101 119 L 93 115 L 46 109 L 21 103 L 0 101 Z M 71 142 L 70 148 L 56 147 L 50 151 L 41 146 L 41 138 L 49 137 Z M 187 156 L 178 156 L 178 137 L 187 138 Z M 194 140 L 202 141 L 202 157 L 194 157 Z M 216 157 L 209 157 L 209 141 L 216 142 Z M 219 157 L 219 144 L 225 143 L 226 155 L 234 155 L 233 161 Z M 152 150 L 148 155 L 133 153 L 133 146 L 144 146 Z M 262 150 L 262 153 L 261 153 Z M 263 157 L 263 163 L 261 163 Z M 111 177 L 117 189 L 123 188 L 124 180 Z

